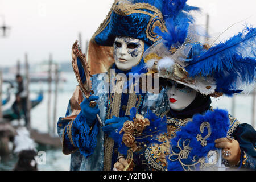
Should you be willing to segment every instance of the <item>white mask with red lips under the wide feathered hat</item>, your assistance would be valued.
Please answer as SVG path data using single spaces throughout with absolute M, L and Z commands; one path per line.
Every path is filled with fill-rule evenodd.
M 196 90 L 171 80 L 167 83 L 166 93 L 172 110 L 184 110 L 195 100 Z

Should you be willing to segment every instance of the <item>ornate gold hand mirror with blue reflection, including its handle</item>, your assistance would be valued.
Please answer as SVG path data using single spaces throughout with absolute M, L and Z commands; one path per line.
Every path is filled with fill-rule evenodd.
M 92 75 L 90 75 L 89 66 L 86 61 L 86 55 L 82 53 L 77 40 L 72 47 L 72 67 L 82 93 L 84 93 L 86 98 L 89 98 L 91 94 L 94 94 L 92 90 L 92 82 L 90 81 L 90 77 Z M 96 102 L 90 101 L 90 107 L 95 106 Z M 103 126 L 103 123 L 98 114 L 97 119 L 100 122 L 100 125 Z M 95 123 L 93 126 L 94 125 Z

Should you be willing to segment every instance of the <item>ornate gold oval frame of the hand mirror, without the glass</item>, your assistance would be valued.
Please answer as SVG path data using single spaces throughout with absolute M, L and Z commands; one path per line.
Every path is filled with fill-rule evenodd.
M 82 79 L 80 77 L 79 68 L 77 65 L 78 58 L 81 60 L 82 67 L 85 72 L 85 83 L 82 83 Z M 92 82 L 90 81 L 90 77 L 92 77 L 92 75 L 90 75 L 89 65 L 86 61 L 86 55 L 82 53 L 78 44 L 78 40 L 76 40 L 72 46 L 72 67 L 81 91 L 85 94 L 86 98 L 89 98 L 89 96 L 94 93 L 92 90 Z

